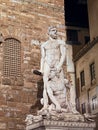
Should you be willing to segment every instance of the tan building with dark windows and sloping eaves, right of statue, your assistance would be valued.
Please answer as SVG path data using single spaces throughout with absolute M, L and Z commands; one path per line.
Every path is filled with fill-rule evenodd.
M 89 42 L 76 55 L 77 103 L 82 114 L 95 114 L 97 110 L 97 48 L 98 38 Z

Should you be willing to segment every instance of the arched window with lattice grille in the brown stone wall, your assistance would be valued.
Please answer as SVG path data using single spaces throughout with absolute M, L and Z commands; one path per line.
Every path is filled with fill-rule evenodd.
M 21 43 L 7 38 L 3 44 L 3 77 L 21 77 Z

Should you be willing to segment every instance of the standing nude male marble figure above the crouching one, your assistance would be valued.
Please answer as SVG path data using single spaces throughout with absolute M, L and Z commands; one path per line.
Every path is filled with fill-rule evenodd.
M 63 92 L 64 87 L 64 75 L 62 65 L 66 57 L 66 47 L 64 41 L 57 39 L 57 29 L 55 27 L 49 27 L 48 30 L 49 40 L 41 46 L 41 68 L 40 72 L 43 74 L 44 90 L 43 90 L 43 109 L 48 107 L 48 96 L 51 102 L 55 105 L 57 111 L 61 111 L 61 105 L 58 99 L 54 96 L 54 90 L 50 81 L 56 78 L 56 81 L 61 80 L 61 89 Z M 53 76 L 54 73 L 54 76 Z M 60 79 L 61 78 L 61 79 Z M 51 85 L 51 87 L 49 86 Z M 63 86 L 62 86 L 63 85 Z M 55 92 L 58 88 L 55 87 Z M 62 88 L 63 87 L 63 88 Z

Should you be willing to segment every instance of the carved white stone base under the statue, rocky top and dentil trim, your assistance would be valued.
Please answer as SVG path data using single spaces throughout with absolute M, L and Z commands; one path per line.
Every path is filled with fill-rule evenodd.
M 96 127 L 94 120 L 79 113 L 28 115 L 26 121 L 26 130 L 94 130 Z

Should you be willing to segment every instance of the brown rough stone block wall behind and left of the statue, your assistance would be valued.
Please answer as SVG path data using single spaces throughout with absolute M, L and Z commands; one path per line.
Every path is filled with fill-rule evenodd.
M 40 45 L 34 43 L 47 40 L 50 25 L 57 26 L 59 37 L 65 38 L 63 0 L 0 0 L 0 33 L 5 40 L 0 44 L 0 130 L 24 130 L 30 108 L 34 113 L 41 107 L 42 77 L 31 70 L 40 66 Z M 20 43 L 20 52 L 17 46 L 12 49 L 15 41 Z M 18 52 L 20 65 L 15 60 Z M 14 60 L 9 62 L 11 58 Z M 16 76 L 11 66 L 18 73 Z

